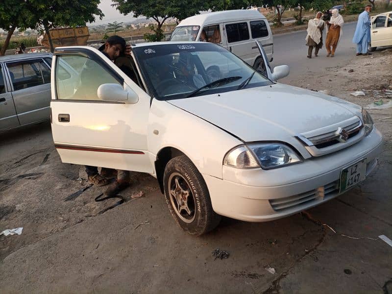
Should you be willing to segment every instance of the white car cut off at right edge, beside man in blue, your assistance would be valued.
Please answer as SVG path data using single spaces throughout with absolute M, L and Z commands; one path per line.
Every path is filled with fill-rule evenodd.
M 392 46 L 392 11 L 371 18 L 370 49 L 383 46 Z

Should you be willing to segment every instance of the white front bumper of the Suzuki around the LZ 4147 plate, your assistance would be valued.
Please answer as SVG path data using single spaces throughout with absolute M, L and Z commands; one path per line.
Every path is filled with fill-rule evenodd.
M 272 221 L 339 196 L 343 168 L 365 159 L 368 175 L 381 150 L 382 135 L 374 128 L 353 146 L 300 164 L 269 171 L 223 166 L 223 179 L 203 177 L 216 213 L 242 221 Z

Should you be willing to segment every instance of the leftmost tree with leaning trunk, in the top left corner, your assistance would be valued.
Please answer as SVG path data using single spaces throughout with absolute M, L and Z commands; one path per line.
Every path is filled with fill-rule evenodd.
M 5 54 L 12 34 L 18 27 L 20 31 L 35 25 L 34 15 L 25 0 L 1 0 L 0 28 L 7 32 L 7 37 L 0 48 L 0 56 Z

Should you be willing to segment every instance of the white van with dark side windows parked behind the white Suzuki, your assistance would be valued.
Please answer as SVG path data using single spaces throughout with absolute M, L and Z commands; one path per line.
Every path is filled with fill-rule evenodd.
M 260 42 L 270 61 L 273 40 L 270 25 L 257 10 L 227 10 L 199 14 L 183 20 L 170 41 L 205 41 L 219 44 L 258 69 L 262 58 L 255 41 Z

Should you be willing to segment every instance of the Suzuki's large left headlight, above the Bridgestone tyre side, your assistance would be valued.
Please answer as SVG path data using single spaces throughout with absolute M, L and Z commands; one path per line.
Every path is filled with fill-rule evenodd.
M 262 167 L 265 170 L 299 163 L 302 160 L 294 150 L 279 143 L 257 143 L 242 145 L 230 150 L 223 164 L 240 169 Z

